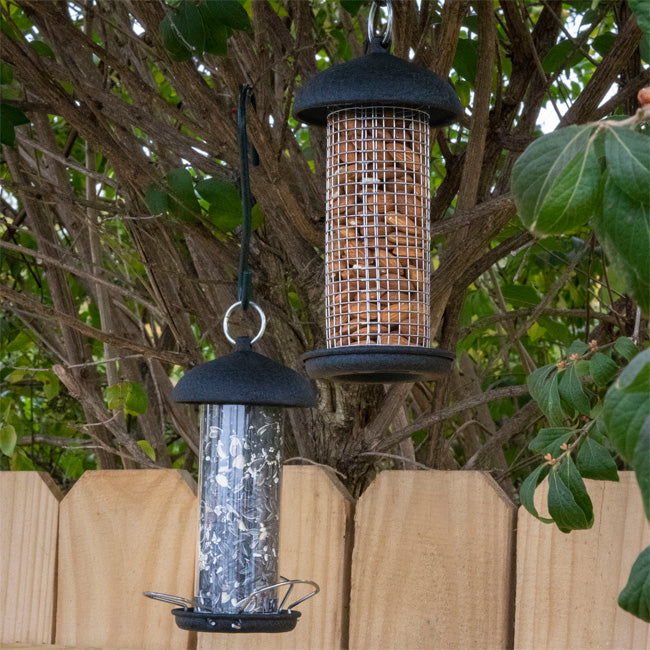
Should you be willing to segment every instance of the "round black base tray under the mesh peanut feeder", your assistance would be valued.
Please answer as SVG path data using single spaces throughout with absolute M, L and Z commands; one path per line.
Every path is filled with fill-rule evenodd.
M 349 345 L 302 356 L 312 379 L 390 384 L 436 379 L 449 372 L 454 355 L 439 348 Z

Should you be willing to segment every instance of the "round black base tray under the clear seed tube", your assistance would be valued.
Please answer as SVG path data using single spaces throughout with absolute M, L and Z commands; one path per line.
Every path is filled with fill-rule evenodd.
M 300 612 L 283 609 L 273 614 L 210 614 L 193 609 L 172 609 L 176 625 L 190 632 L 290 632 Z

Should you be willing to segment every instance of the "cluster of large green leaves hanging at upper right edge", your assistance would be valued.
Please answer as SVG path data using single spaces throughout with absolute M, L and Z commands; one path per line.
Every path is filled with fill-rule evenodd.
M 648 313 L 650 141 L 614 124 L 571 126 L 539 138 L 517 160 L 512 190 L 522 222 L 539 236 L 593 219 L 611 263 Z

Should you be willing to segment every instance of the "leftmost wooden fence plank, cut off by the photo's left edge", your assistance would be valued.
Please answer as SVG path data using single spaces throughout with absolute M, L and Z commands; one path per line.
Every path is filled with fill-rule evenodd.
M 60 499 L 47 474 L 0 472 L 0 642 L 53 641 Z

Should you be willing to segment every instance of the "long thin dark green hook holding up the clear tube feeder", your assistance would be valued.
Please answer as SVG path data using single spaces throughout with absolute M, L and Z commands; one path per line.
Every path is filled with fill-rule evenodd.
M 242 309 L 248 309 L 250 303 L 250 271 L 248 270 L 248 253 L 251 241 L 251 186 L 248 163 L 248 133 L 246 132 L 246 100 L 250 96 L 251 104 L 255 109 L 255 96 L 253 87 L 245 84 L 239 91 L 239 106 L 237 110 L 237 130 L 239 135 L 239 160 L 241 163 L 241 203 L 242 203 L 242 234 L 241 252 L 239 255 L 239 286 L 237 300 L 241 302 Z M 259 156 L 253 148 L 252 164 L 259 164 Z

